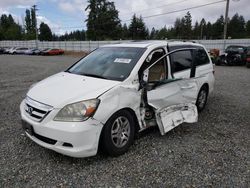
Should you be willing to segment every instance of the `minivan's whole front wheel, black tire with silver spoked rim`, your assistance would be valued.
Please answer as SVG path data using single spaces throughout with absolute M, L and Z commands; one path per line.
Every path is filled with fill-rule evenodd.
M 113 132 L 113 134 L 112 134 Z M 135 122 L 130 112 L 121 110 L 109 118 L 101 135 L 101 149 L 110 156 L 127 152 L 134 142 Z

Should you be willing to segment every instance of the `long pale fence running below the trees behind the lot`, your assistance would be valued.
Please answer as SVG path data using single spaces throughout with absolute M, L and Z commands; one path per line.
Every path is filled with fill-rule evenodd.
M 171 40 L 172 41 L 172 40 Z M 228 39 L 228 40 L 193 40 L 203 44 L 208 50 L 219 49 L 224 50 L 224 46 L 243 45 L 250 46 L 250 39 Z M 113 41 L 38 41 L 38 48 L 60 48 L 66 51 L 92 51 L 99 46 L 107 44 L 119 44 L 129 42 L 128 40 Z M 0 47 L 28 47 L 35 48 L 36 41 L 0 41 Z

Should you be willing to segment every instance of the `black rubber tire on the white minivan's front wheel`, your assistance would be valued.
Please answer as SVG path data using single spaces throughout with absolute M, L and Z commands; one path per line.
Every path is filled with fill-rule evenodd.
M 119 142 L 118 139 L 116 139 L 116 137 L 114 136 L 115 134 L 117 134 L 117 135 L 119 134 L 122 137 L 122 135 L 125 134 L 123 132 L 123 130 L 120 131 L 119 133 L 115 133 L 113 135 L 111 134 L 111 132 L 113 132 L 113 133 L 115 132 L 114 127 L 115 126 L 118 127 L 119 123 L 117 123 L 117 121 L 118 122 L 120 120 L 122 121 L 123 118 L 124 118 L 124 122 L 125 122 L 125 120 L 128 121 L 128 123 L 129 123 L 128 126 L 129 126 L 129 130 L 130 130 L 126 143 L 124 140 L 121 141 L 122 139 L 120 139 L 120 142 Z M 117 136 L 117 137 L 119 137 L 119 136 Z M 114 115 L 112 115 L 109 118 L 109 120 L 107 121 L 107 123 L 103 127 L 102 134 L 101 134 L 101 140 L 100 140 L 101 150 L 110 156 L 122 155 L 122 154 L 126 153 L 127 150 L 129 149 L 129 147 L 133 144 L 134 137 L 135 137 L 135 122 L 134 122 L 133 116 L 131 115 L 130 112 L 128 112 L 126 110 L 118 111 L 117 113 L 115 113 Z M 117 145 L 119 145 L 118 143 L 122 143 L 124 145 L 121 144 L 120 147 L 118 147 L 117 146 Z

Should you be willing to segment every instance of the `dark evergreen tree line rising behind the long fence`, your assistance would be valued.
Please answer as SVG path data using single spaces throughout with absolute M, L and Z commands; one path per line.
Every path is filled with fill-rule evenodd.
M 76 30 L 64 35 L 53 34 L 46 23 L 38 27 L 38 39 L 51 40 L 144 40 L 144 39 L 222 39 L 224 17 L 220 16 L 211 23 L 203 18 L 192 25 L 192 16 L 187 12 L 182 18 L 176 18 L 171 27 L 160 29 L 146 26 L 143 17 L 134 14 L 129 24 L 122 24 L 114 2 L 109 0 L 88 0 L 85 9 L 87 30 Z M 36 39 L 36 19 L 33 8 L 25 11 L 24 25 L 16 23 L 12 15 L 0 17 L 0 40 Z M 228 38 L 249 38 L 250 20 L 236 13 L 228 20 Z

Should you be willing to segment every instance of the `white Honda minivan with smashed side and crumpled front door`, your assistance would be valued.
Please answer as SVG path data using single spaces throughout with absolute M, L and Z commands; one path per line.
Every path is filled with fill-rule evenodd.
M 144 41 L 100 47 L 66 71 L 32 85 L 20 105 L 37 144 L 72 157 L 125 153 L 135 134 L 162 135 L 194 123 L 214 88 L 207 51 L 192 42 Z

